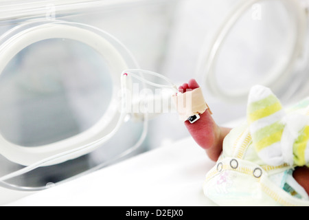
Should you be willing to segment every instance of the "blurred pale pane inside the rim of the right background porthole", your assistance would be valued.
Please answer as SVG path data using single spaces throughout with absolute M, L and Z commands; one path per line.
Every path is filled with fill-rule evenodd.
M 286 54 L 293 52 L 295 30 L 284 5 L 279 1 L 264 1 L 260 10 L 260 20 L 252 19 L 252 10 L 247 10 L 222 43 L 216 80 L 227 92 L 263 84 L 271 76 L 270 70 L 286 65 Z

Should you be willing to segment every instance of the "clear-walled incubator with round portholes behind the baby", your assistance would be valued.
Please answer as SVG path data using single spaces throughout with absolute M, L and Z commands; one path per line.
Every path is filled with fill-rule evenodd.
M 50 188 L 72 184 L 128 157 L 181 144 L 188 134 L 170 99 L 177 85 L 190 78 L 201 82 L 216 121 L 230 126 L 244 117 L 255 84 L 271 87 L 285 104 L 308 96 L 307 1 L 1 4 L 1 204 L 42 191 L 46 196 Z M 148 96 L 128 101 L 135 89 L 149 91 Z M 167 100 L 166 111 L 161 105 L 155 113 L 128 111 L 158 100 Z M 183 144 L 194 145 L 187 139 Z M 157 159 L 165 149 L 154 153 Z M 181 157 L 192 154 L 182 149 Z M 149 170 L 156 157 L 148 158 Z M 196 162 L 202 160 L 198 158 Z M 127 167 L 135 166 L 131 162 Z M 121 174 L 121 167 L 114 172 Z M 203 181 L 207 170 L 200 173 Z M 106 182 L 102 187 L 110 186 Z

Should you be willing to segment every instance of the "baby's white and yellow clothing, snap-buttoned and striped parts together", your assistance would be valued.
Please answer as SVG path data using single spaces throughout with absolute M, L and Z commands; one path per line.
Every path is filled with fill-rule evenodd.
M 253 87 L 247 121 L 225 137 L 205 195 L 220 206 L 309 206 L 293 178 L 296 166 L 309 164 L 308 117 L 309 98 L 284 110 L 270 89 Z

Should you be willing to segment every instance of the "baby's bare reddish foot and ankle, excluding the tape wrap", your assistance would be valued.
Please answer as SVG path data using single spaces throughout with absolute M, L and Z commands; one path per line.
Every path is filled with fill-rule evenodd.
M 179 87 L 179 91 L 185 93 L 187 89 L 194 90 L 199 88 L 196 80 L 190 80 L 189 83 L 183 84 Z M 216 124 L 211 117 L 209 110 L 200 115 L 201 118 L 191 124 L 189 121 L 185 122 L 188 131 L 198 145 L 204 148 L 210 159 L 216 161 L 222 152 L 222 144 L 225 136 L 231 129 L 221 128 Z

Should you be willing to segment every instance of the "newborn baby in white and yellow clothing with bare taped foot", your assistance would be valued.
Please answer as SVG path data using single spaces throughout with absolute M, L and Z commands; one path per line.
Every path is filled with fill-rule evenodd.
M 198 88 L 198 83 L 192 79 L 189 83 L 184 83 L 179 87 L 179 92 L 185 94 Z M 261 96 L 267 98 L 259 100 Z M 257 111 L 259 104 L 265 104 L 266 107 Z M 308 106 L 306 109 L 308 109 Z M 218 126 L 211 117 L 211 111 L 208 108 L 205 112 L 199 114 L 200 118 L 195 122 L 185 121 L 185 126 L 196 143 L 205 149 L 210 159 L 217 162 L 216 167 L 207 174 L 205 195 L 212 197 L 211 199 L 219 204 L 222 201 L 222 205 L 236 205 L 238 201 L 240 203 L 241 201 L 247 202 L 247 195 L 245 196 L 244 193 L 246 192 L 249 195 L 250 190 L 255 191 L 254 196 L 251 194 L 250 197 L 258 195 L 258 203 L 265 201 L 265 204 L 273 204 L 273 201 L 275 201 L 275 204 L 279 203 L 279 205 L 302 205 L 302 203 L 298 203 L 298 200 L 293 199 L 301 199 L 302 201 L 308 199 L 309 168 L 306 167 L 308 161 L 301 162 L 297 159 L 295 152 L 293 159 L 293 151 L 296 151 L 295 147 L 304 150 L 304 147 L 309 146 L 309 144 L 304 144 L 304 140 L 308 141 L 309 134 L 306 130 L 299 137 L 297 136 L 296 140 L 303 142 L 299 146 L 294 146 L 294 150 L 293 146 L 291 148 L 286 146 L 290 149 L 288 151 L 290 155 L 282 153 L 285 150 L 281 149 L 283 147 L 281 143 L 288 142 L 290 140 L 288 137 L 295 135 L 295 131 L 293 131 L 295 120 L 289 119 L 284 114 L 279 115 L 283 112 L 281 103 L 271 93 L 270 89 L 255 87 L 251 90 L 249 96 L 248 122 L 241 129 L 236 128 L 233 131 L 234 129 Z M 263 118 L 264 116 L 269 117 Z M 267 124 L 269 123 L 266 121 L 268 118 L 273 118 L 272 120 L 276 122 Z M 294 124 L 289 124 L 291 120 Z M 268 127 L 269 131 L 267 130 Z M 278 131 L 275 129 L 278 129 Z M 244 135 L 246 132 L 247 135 Z M 237 135 L 238 137 L 236 137 Z M 286 141 L 283 142 L 284 138 Z M 235 154 L 236 148 L 240 149 L 238 151 L 240 156 Z M 227 164 L 224 162 L 226 159 L 229 159 Z M 225 170 L 226 172 L 224 172 Z M 252 188 L 247 190 L 240 188 L 244 181 L 250 181 L 248 185 Z M 266 182 L 268 184 L 265 184 Z M 270 186 L 273 183 L 275 183 L 274 187 Z M 302 188 L 297 185 L 302 186 Z M 247 187 L 247 185 L 244 186 Z M 239 188 L 233 189 L 237 187 Z M 286 195 L 286 192 L 288 192 L 288 195 Z M 249 202 L 251 201 L 250 197 Z M 234 203 L 235 201 L 236 203 Z M 255 204 L 253 203 L 253 205 Z

